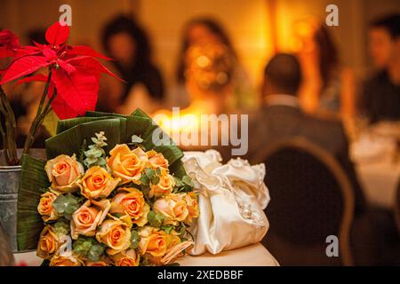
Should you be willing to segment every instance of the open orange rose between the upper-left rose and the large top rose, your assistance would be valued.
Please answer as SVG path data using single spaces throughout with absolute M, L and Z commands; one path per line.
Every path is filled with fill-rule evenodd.
M 80 186 L 84 197 L 97 199 L 107 198 L 118 183 L 119 178 L 114 179 L 106 169 L 94 166 L 86 171 Z

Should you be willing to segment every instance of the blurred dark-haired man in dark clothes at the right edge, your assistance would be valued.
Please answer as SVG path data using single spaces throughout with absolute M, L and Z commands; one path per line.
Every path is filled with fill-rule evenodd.
M 364 83 L 364 114 L 372 123 L 400 121 L 400 14 L 372 22 L 369 47 L 378 70 Z

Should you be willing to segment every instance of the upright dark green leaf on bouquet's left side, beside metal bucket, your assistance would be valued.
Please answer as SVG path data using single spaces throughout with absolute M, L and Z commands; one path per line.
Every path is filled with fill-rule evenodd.
M 22 157 L 20 171 L 20 190 L 18 193 L 17 211 L 17 241 L 18 250 L 33 250 L 37 247 L 40 232 L 43 229 L 43 220 L 37 213 L 40 189 L 50 185 L 46 172 L 45 161 L 32 158 L 28 154 Z

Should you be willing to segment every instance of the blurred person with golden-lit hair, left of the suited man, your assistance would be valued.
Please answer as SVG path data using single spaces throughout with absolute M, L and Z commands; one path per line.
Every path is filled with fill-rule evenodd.
M 164 114 L 168 119 L 158 121 L 158 124 L 173 137 L 173 132 L 196 133 L 200 138 L 204 135 L 218 135 L 218 130 L 202 129 L 203 114 L 227 114 L 227 101 L 232 97 L 232 75 L 234 74 L 235 56 L 224 44 L 206 43 L 191 45 L 185 54 L 185 89 L 188 91 L 190 103 L 180 109 L 179 117 L 173 116 L 171 110 L 161 110 L 156 114 Z M 154 117 L 156 117 L 154 114 Z M 196 135 L 195 134 L 195 135 Z M 189 134 L 191 135 L 191 134 Z M 181 142 L 181 141 L 180 141 Z M 196 142 L 195 142 L 196 143 Z M 220 145 L 220 143 L 219 143 Z M 230 157 L 228 146 L 182 145 L 184 150 L 204 151 L 214 148 L 220 151 L 222 157 Z

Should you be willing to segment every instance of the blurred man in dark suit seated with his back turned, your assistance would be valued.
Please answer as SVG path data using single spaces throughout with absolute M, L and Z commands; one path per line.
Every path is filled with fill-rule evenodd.
M 299 60 L 292 54 L 278 53 L 264 71 L 263 108 L 251 117 L 249 125 L 249 161 L 266 146 L 285 138 L 303 137 L 332 154 L 353 185 L 356 214 L 365 209 L 364 194 L 348 157 L 348 139 L 339 120 L 322 119 L 300 109 L 298 98 L 302 73 Z M 261 123 L 262 122 L 262 123 Z

